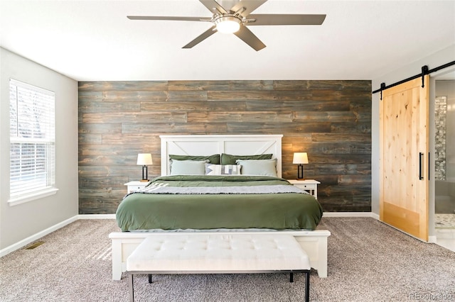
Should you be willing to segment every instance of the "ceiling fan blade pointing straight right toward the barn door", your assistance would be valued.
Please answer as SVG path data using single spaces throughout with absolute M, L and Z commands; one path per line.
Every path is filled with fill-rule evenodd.
M 254 14 L 247 19 L 256 19 L 254 22 L 245 23 L 247 26 L 267 25 L 321 25 L 326 15 L 266 15 Z

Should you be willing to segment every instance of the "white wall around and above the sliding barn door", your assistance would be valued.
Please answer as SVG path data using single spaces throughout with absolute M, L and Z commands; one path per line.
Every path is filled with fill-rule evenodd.
M 412 77 L 415 74 L 419 74 L 422 72 L 422 66 L 427 65 L 429 69 L 433 69 L 435 67 L 439 67 L 446 63 L 452 62 L 455 60 L 455 45 L 451 45 L 449 47 L 440 50 L 439 52 L 435 52 L 432 55 L 422 58 L 422 60 L 418 60 L 416 62 L 412 62 L 411 64 L 404 65 L 399 69 L 395 69 L 394 71 L 383 75 L 382 77 L 378 77 L 377 79 L 372 80 L 373 90 L 379 89 L 380 84 L 384 82 L 386 85 L 393 84 L 395 82 L 399 82 L 402 79 L 407 79 L 408 77 Z M 430 74 L 430 104 L 429 110 L 430 113 L 434 112 L 434 86 L 435 86 L 435 78 L 437 78 L 438 74 L 447 72 L 448 69 L 455 69 L 454 66 L 449 67 L 447 69 L 441 70 L 439 72 L 435 72 Z M 380 94 L 373 94 L 373 108 L 372 108 L 372 129 L 371 129 L 371 136 L 372 136 L 372 154 L 371 154 L 371 178 L 372 178 L 372 188 L 371 188 L 371 197 L 372 197 L 372 204 L 371 209 L 373 213 L 379 215 L 379 99 Z M 430 133 L 430 152 L 434 154 L 434 114 L 430 114 L 429 116 L 429 133 Z M 430 169 L 430 185 L 429 185 L 429 235 L 434 235 L 434 162 L 430 162 L 432 167 Z

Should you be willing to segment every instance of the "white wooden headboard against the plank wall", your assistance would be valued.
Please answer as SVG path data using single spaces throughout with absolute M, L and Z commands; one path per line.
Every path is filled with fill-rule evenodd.
M 161 175 L 169 174 L 169 155 L 259 155 L 272 153 L 282 177 L 283 135 L 160 135 Z

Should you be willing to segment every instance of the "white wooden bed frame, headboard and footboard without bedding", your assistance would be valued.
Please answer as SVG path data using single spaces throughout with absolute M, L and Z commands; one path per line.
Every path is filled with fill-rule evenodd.
M 277 159 L 278 176 L 282 176 L 282 137 L 283 135 L 160 135 L 161 138 L 161 175 L 169 174 L 168 156 L 173 155 L 213 155 L 228 153 L 233 155 L 259 155 L 272 153 Z M 232 231 L 235 232 L 235 231 Z M 232 232 L 199 231 L 198 234 Z M 273 233 L 278 231 L 241 231 L 242 234 Z M 327 276 L 327 238 L 328 230 L 287 230 L 293 235 L 309 256 L 311 267 L 318 271 L 321 278 Z M 179 232 L 181 234 L 181 232 Z M 127 258 L 146 238 L 156 233 L 110 233 L 112 240 L 112 279 L 122 279 L 126 272 Z M 171 234 L 171 233 L 170 233 Z

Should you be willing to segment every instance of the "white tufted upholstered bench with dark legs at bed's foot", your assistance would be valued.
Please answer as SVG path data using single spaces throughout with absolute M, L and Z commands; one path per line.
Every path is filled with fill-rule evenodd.
M 134 274 L 240 274 L 294 272 L 306 275 L 309 301 L 310 262 L 292 235 L 154 234 L 127 259 L 129 300 L 134 301 Z

